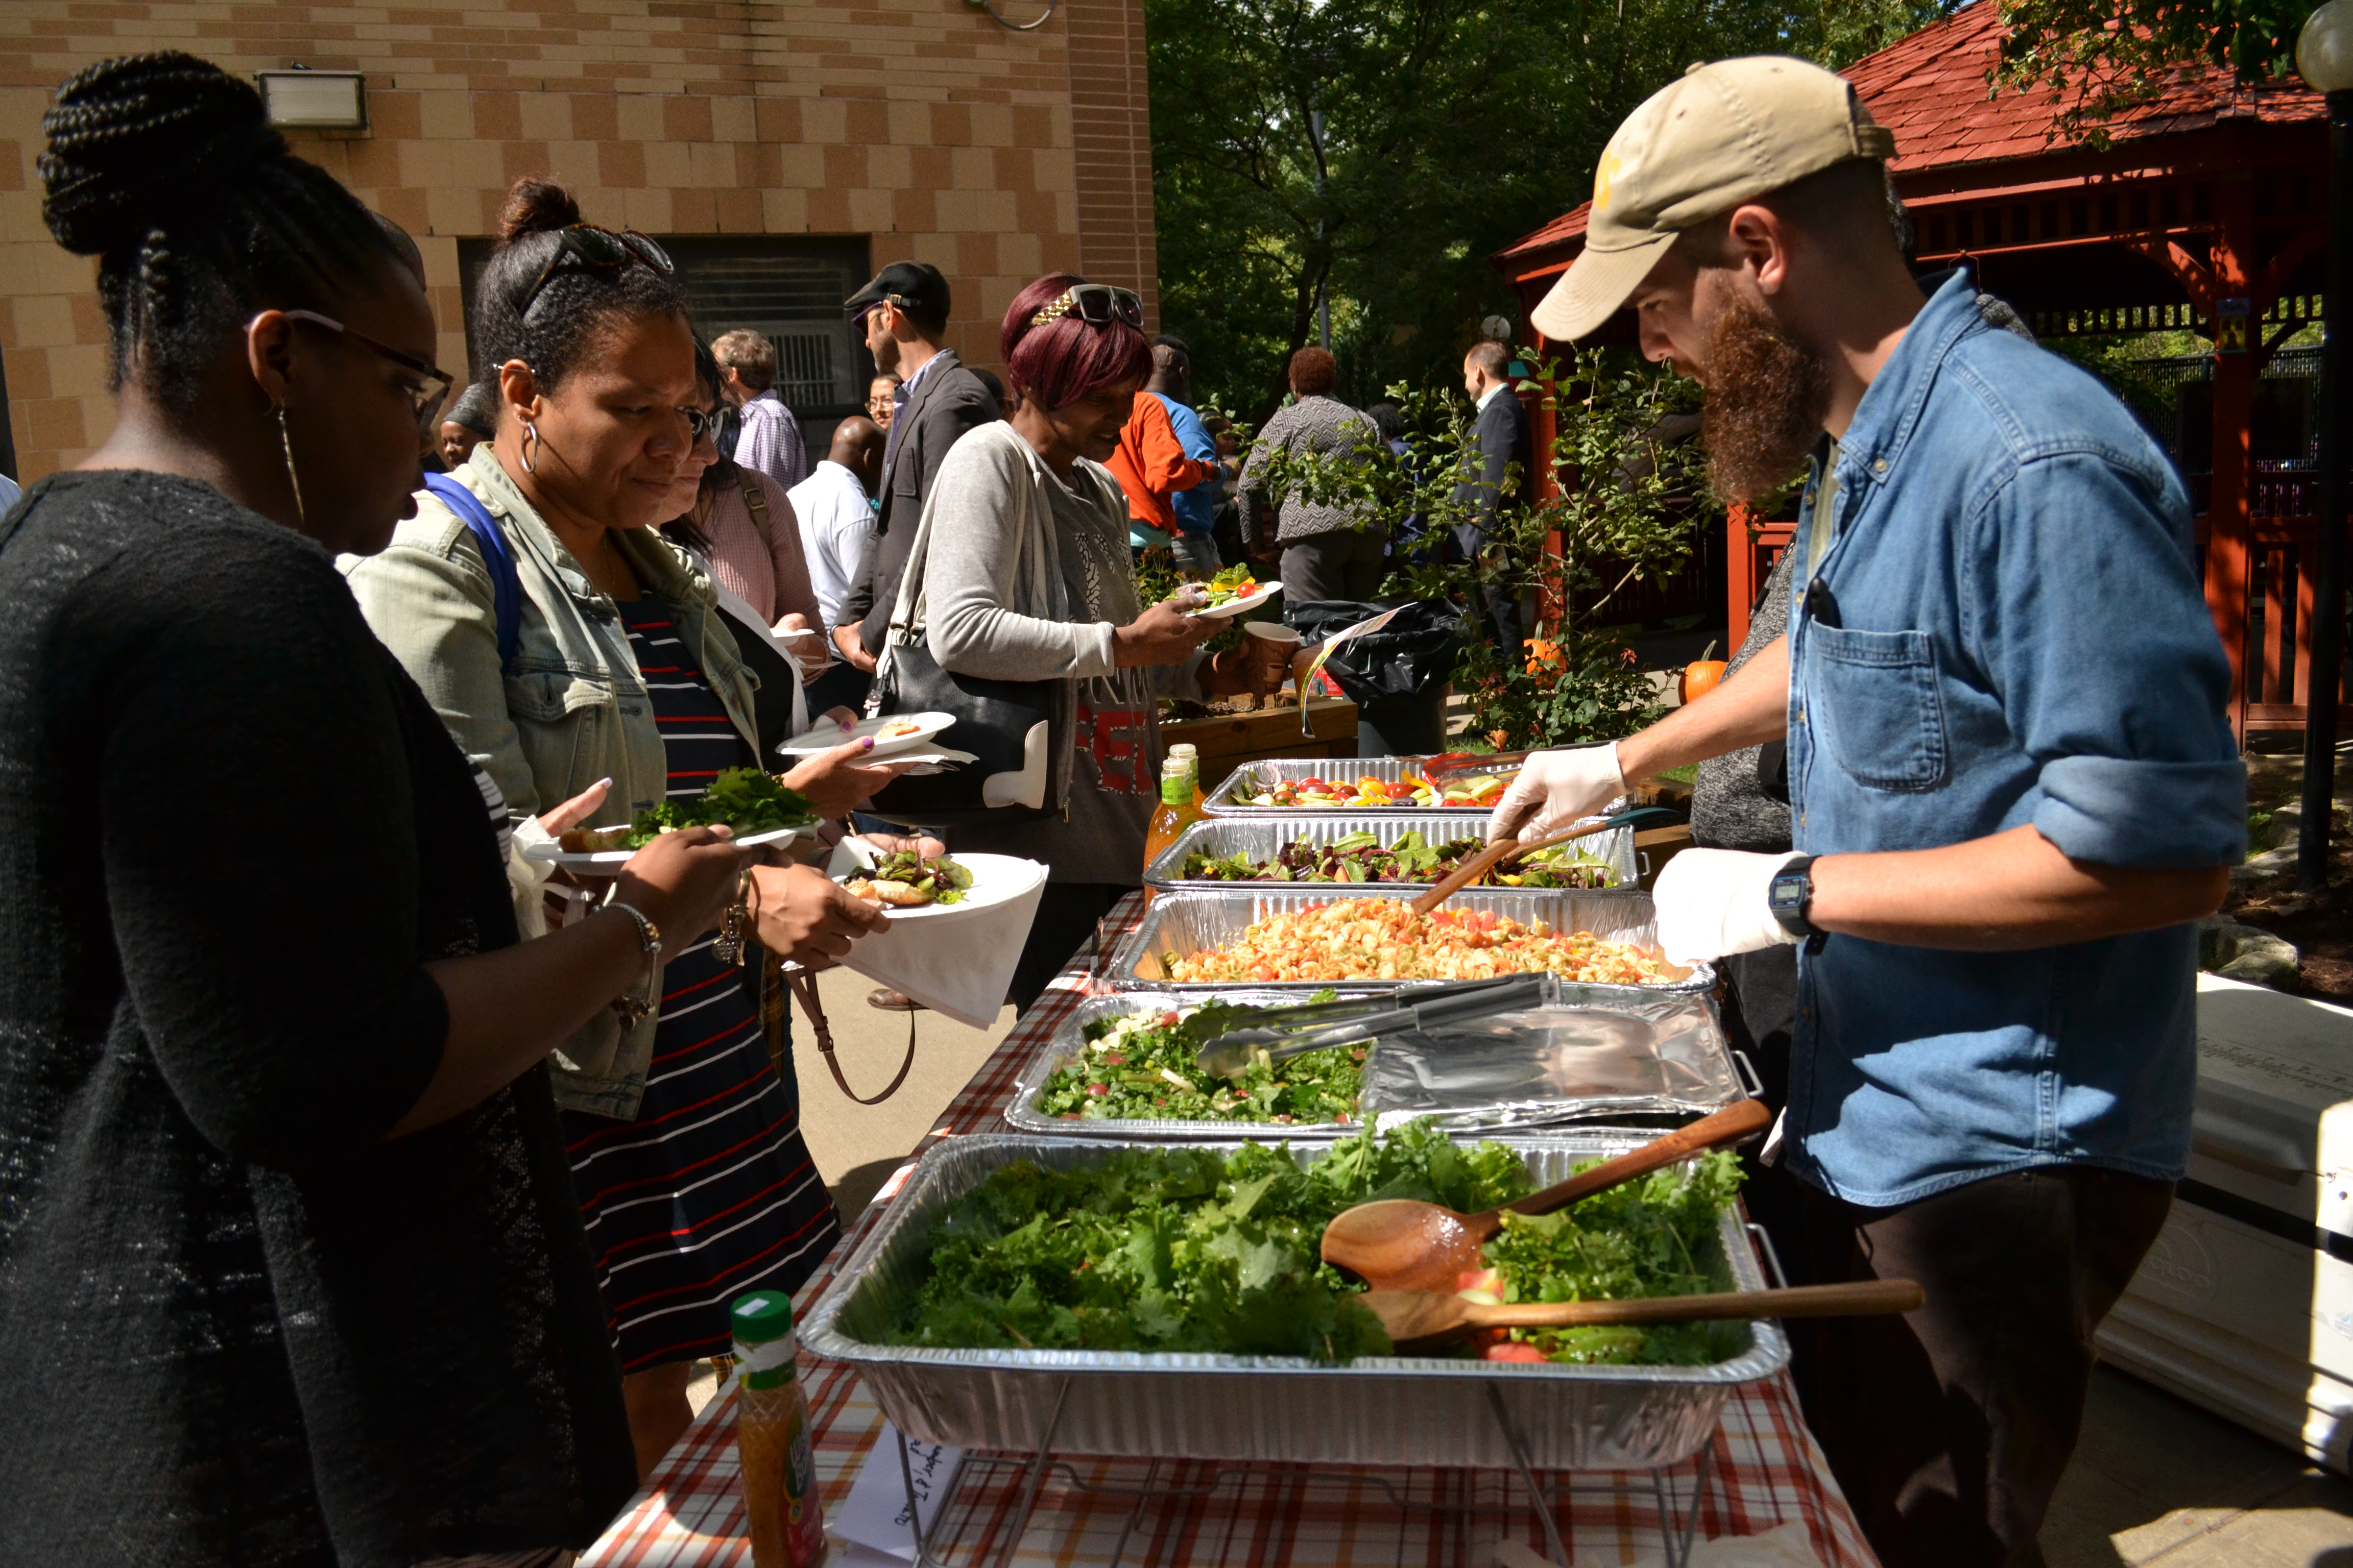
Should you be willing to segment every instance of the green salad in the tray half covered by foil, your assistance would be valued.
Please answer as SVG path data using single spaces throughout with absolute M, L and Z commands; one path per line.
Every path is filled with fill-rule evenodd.
M 1315 992 L 1306 1004 L 1332 1001 Z M 1365 1041 L 1252 1063 L 1217 1079 L 1195 1056 L 1235 1025 L 1242 1009 L 1209 1001 L 1172 1013 L 1127 1013 L 1087 1025 L 1087 1051 L 1059 1067 L 1031 1100 L 1071 1121 L 1353 1121 L 1365 1086 Z

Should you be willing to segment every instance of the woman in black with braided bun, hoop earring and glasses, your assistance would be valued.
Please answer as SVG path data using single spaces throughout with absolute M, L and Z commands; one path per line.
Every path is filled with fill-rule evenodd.
M 42 129 L 120 411 L 0 522 L 0 1561 L 553 1561 L 635 1465 L 541 1060 L 744 853 L 518 945 L 506 806 L 329 559 L 447 390 L 414 249 L 186 54 Z

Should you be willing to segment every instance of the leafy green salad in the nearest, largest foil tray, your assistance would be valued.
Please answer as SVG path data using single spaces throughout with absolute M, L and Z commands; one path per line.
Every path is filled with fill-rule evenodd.
M 1586 1161 L 1595 1164 L 1595 1161 Z M 1226 1352 L 1353 1361 L 1393 1345 L 1318 1258 L 1322 1227 L 1372 1199 L 1475 1213 L 1529 1192 L 1513 1150 L 1454 1145 L 1417 1121 L 1344 1138 L 1299 1168 L 1287 1147 L 1108 1150 L 1075 1171 L 1012 1164 L 958 1199 L 927 1241 L 929 1276 L 892 1345 Z M 1739 1187 L 1729 1154 L 1520 1220 L 1487 1244 L 1466 1291 L 1494 1300 L 1692 1295 L 1718 1286 L 1715 1215 Z M 1457 1347 L 1489 1361 L 1706 1366 L 1744 1324 L 1515 1328 Z

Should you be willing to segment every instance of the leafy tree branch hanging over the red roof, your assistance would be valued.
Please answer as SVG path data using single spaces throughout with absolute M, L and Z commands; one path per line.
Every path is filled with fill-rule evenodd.
M 1995 0 L 2002 56 L 1993 85 L 2049 85 L 2064 108 L 2054 132 L 2106 146 L 2106 125 L 2153 103 L 2186 63 L 2224 66 L 2240 82 L 2294 71 L 2311 0 Z

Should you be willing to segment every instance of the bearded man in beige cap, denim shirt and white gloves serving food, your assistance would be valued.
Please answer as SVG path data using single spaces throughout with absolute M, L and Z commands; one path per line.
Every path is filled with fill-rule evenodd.
M 1927 1293 L 1800 1340 L 1871 1544 L 2033 1566 L 2092 1331 L 2188 1154 L 2193 922 L 2245 853 L 2245 769 L 2179 477 L 1967 275 L 1922 303 L 1892 153 L 1847 82 L 1779 56 L 1694 66 L 1609 141 L 1534 322 L 1579 339 L 1631 303 L 1706 386 L 1729 496 L 1812 451 L 1805 555 L 1781 644 L 1640 736 L 1541 752 L 1489 832 L 1786 736 L 1798 853 L 1680 853 L 1659 938 L 1800 947 L 1800 1267 Z

